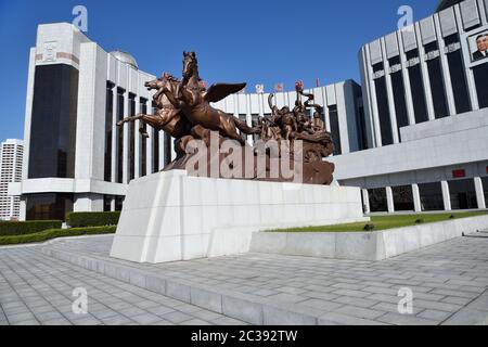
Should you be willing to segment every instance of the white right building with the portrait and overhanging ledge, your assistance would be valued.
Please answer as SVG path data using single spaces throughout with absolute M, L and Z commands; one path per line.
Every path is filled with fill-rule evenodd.
M 441 1 L 361 48 L 370 150 L 333 160 L 367 210 L 486 208 L 487 13 L 488 0 Z

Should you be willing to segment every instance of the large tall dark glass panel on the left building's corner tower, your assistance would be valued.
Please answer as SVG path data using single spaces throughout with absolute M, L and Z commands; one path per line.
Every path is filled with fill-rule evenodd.
M 38 65 L 34 81 L 29 178 L 74 178 L 78 70 Z

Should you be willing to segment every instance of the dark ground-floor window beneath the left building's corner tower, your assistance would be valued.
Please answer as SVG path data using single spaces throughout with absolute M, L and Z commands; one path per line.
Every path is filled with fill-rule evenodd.
M 73 194 L 46 193 L 25 196 L 27 220 L 65 220 L 66 214 L 73 211 Z

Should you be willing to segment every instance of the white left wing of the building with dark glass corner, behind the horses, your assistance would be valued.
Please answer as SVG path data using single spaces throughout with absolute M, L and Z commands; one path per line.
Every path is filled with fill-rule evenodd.
M 170 160 L 163 132 L 116 123 L 152 113 L 155 79 L 121 51 L 105 52 L 67 23 L 39 25 L 30 49 L 21 219 L 64 219 L 68 211 L 119 210 L 131 179 Z M 166 144 L 166 146 L 165 146 Z M 165 151 L 166 147 L 166 151 Z

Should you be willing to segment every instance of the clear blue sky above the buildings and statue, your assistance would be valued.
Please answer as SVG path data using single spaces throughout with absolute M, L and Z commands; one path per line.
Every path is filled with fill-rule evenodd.
M 400 5 L 414 21 L 437 0 L 0 0 L 0 140 L 23 138 L 28 50 L 38 24 L 72 22 L 88 9 L 87 36 L 106 51 L 130 52 L 141 69 L 181 75 L 182 51 L 196 51 L 209 83 L 245 81 L 248 91 L 316 78 L 359 81 L 360 47 L 397 27 Z

